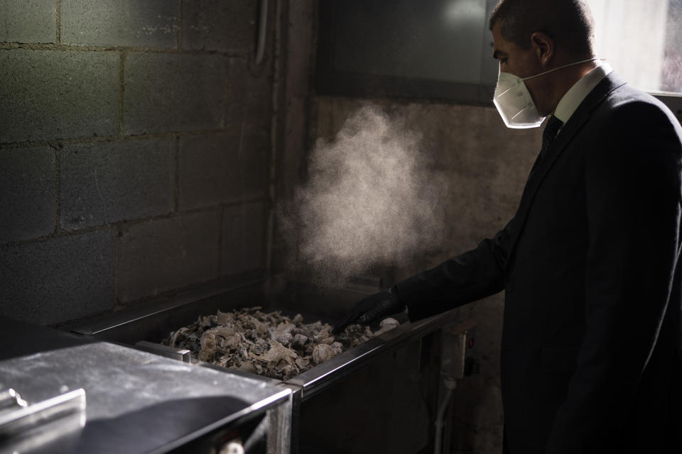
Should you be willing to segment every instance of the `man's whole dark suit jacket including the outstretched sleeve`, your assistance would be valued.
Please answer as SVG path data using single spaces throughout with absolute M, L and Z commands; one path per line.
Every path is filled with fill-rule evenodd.
M 612 73 L 502 231 L 397 285 L 412 320 L 504 289 L 511 454 L 682 453 L 681 170 L 676 118 Z

